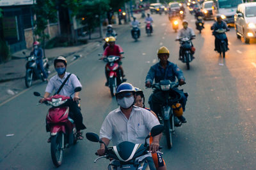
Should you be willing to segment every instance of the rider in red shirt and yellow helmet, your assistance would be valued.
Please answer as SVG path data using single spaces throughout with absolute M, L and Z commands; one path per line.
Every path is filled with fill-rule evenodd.
M 108 57 L 109 55 L 115 55 L 115 56 L 119 56 L 120 59 L 118 60 L 118 65 L 119 65 L 119 69 L 120 69 L 120 72 L 121 72 L 121 75 L 123 77 L 123 81 L 126 81 L 126 79 L 124 78 L 124 69 L 123 67 L 121 66 L 122 65 L 122 62 L 121 62 L 121 59 L 123 58 L 122 54 L 124 53 L 123 49 L 121 48 L 121 46 L 119 45 L 115 45 L 115 41 L 116 39 L 111 36 L 109 37 L 109 46 L 106 47 L 106 49 L 104 50 L 104 53 L 103 53 L 103 57 L 101 59 L 104 59 L 104 57 Z M 107 78 L 107 82 L 106 82 L 106 86 L 108 86 L 108 68 L 107 66 L 105 67 L 105 74 L 106 74 L 106 78 Z

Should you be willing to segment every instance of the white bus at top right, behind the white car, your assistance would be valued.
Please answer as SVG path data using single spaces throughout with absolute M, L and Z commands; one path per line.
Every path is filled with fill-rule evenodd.
M 243 0 L 214 0 L 213 15 L 221 15 L 221 18 L 227 24 L 234 24 L 234 15 L 236 14 L 237 6 L 243 3 Z

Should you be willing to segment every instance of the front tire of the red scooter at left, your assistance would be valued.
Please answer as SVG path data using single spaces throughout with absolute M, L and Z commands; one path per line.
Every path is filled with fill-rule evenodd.
M 54 166 L 61 166 L 63 159 L 63 148 L 62 143 L 64 143 L 64 134 L 63 132 L 58 132 L 55 136 L 51 136 L 51 156 Z

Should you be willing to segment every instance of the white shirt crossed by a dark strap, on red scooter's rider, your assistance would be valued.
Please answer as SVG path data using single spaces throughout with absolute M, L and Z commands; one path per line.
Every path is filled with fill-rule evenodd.
M 68 74 L 70 73 L 66 72 L 63 78 L 60 78 L 58 74 L 53 76 L 49 80 L 45 92 L 48 92 L 50 94 L 53 92 L 53 90 L 57 92 L 63 81 L 67 78 Z M 72 94 L 72 97 L 74 97 L 74 90 L 76 89 L 76 87 L 82 87 L 82 85 L 78 80 L 77 76 L 75 74 L 71 74 L 63 88 L 60 90 L 59 94 L 63 96 L 70 96 Z

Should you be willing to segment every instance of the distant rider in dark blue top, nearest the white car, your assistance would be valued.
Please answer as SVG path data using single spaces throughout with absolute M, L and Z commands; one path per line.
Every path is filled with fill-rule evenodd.
M 218 46 L 218 39 L 216 38 L 216 30 L 218 29 L 226 29 L 227 31 L 229 31 L 228 29 L 228 25 L 225 21 L 222 20 L 221 15 L 217 15 L 216 16 L 216 22 L 212 25 L 211 30 L 213 30 L 212 34 L 215 36 L 215 41 L 214 41 L 214 51 L 217 51 L 217 46 Z M 224 39 L 226 41 L 226 45 L 227 45 L 227 50 L 229 50 L 228 48 L 228 38 Z

